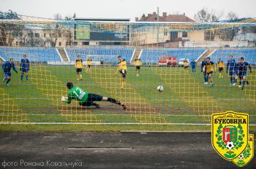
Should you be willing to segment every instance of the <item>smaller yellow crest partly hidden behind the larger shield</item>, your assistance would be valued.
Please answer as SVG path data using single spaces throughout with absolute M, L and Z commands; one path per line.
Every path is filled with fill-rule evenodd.
M 246 149 L 244 150 L 244 152 L 242 152 L 242 154 L 240 154 L 238 157 L 236 157 L 233 162 L 238 166 L 238 167 L 244 167 L 244 165 L 248 164 L 255 152 L 255 145 L 254 145 L 254 135 L 253 134 L 249 134 L 248 137 L 248 145 L 246 146 Z

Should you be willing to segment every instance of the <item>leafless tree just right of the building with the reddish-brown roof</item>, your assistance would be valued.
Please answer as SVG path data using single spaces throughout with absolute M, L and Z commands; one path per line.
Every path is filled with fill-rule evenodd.
M 214 10 L 209 11 L 206 8 L 200 9 L 198 11 L 194 18 L 200 23 L 213 23 L 219 21 L 219 18 L 222 17 L 222 13 L 217 13 Z

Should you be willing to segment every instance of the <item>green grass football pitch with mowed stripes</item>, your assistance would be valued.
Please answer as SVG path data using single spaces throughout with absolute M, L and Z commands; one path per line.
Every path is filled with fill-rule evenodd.
M 184 68 L 142 67 L 136 76 L 135 67 L 128 67 L 127 84 L 120 90 L 121 76 L 116 67 L 94 66 L 83 71 L 83 81 L 77 82 L 74 66 L 31 66 L 29 82 L 20 82 L 20 72 L 12 73 L 10 86 L 0 84 L 0 122 L 68 122 L 108 125 L 0 125 L 0 130 L 210 130 L 214 112 L 249 113 L 249 124 L 256 124 L 255 71 L 249 74 L 250 84 L 241 91 L 229 86 L 229 77 L 219 79 L 214 74 L 215 87 L 203 84 L 203 74 Z M 3 74 L 0 78 L 3 79 Z M 24 78 L 25 79 L 25 78 Z M 61 103 L 67 94 L 68 81 L 89 93 L 116 98 L 127 104 L 127 111 L 110 103 L 101 108 L 82 108 L 75 101 Z M 164 92 L 157 86 L 162 84 Z M 158 125 L 110 125 L 115 123 L 157 123 Z M 176 125 L 159 125 L 161 123 Z M 255 130 L 255 126 L 250 126 Z

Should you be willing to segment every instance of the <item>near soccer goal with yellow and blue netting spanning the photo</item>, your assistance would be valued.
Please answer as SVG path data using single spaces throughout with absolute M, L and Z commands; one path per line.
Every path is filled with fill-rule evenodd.
M 256 125 L 256 23 L 0 20 L 0 124 Z M 15 72 L 17 71 L 17 73 Z

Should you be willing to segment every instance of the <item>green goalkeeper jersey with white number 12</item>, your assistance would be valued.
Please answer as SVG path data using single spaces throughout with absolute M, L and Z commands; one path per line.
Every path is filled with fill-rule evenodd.
M 67 93 L 66 103 L 71 103 L 73 99 L 79 101 L 80 103 L 86 102 L 88 100 L 88 93 L 84 92 L 80 87 L 72 87 Z

